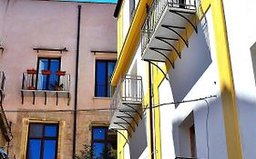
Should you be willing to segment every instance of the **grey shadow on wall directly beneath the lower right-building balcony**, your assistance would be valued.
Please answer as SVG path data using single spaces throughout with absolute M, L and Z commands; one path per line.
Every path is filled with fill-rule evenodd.
M 145 112 L 146 113 L 146 112 Z M 147 115 L 143 115 L 143 119 L 140 120 L 136 131 L 132 134 L 129 140 L 130 158 L 139 158 L 139 156 L 147 148 L 147 128 L 146 128 Z

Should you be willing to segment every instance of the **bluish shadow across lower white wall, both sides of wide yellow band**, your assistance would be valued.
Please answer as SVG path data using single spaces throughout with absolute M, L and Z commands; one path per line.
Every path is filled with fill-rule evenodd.
M 192 113 L 173 122 L 173 141 L 176 156 L 191 156 L 191 137 L 189 127 L 195 126 L 195 150 L 198 158 L 227 158 L 226 133 L 222 104 L 229 105 L 232 101 L 230 90 L 222 89 L 222 98 L 211 98 L 197 102 L 191 102 L 185 106 L 196 107 Z M 224 99 L 224 100 L 223 100 Z M 256 121 L 255 99 L 236 96 L 238 108 L 239 128 L 241 134 L 241 149 L 244 158 L 253 158 L 256 155 Z M 196 105 L 196 106 L 195 106 Z M 180 104 L 180 106 L 183 106 Z M 232 111 L 228 111 L 232 116 Z M 192 114 L 192 115 L 191 115 Z M 178 114 L 179 115 L 179 114 Z M 234 119 L 230 119 L 234 120 Z M 217 140 L 216 140 L 217 139 Z M 218 147 L 218 149 L 216 148 Z

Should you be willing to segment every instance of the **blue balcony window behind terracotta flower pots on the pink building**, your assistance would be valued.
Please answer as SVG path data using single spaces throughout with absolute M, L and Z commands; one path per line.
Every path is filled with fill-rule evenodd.
M 55 74 L 60 70 L 60 58 L 38 58 L 37 62 L 37 89 L 38 90 L 53 90 L 51 85 L 59 83 L 59 77 Z M 43 70 L 49 70 L 50 75 L 41 74 Z

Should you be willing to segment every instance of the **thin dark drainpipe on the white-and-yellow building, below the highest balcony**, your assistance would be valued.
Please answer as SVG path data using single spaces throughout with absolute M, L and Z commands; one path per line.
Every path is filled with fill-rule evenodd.
M 154 152 L 154 133 L 153 133 L 153 108 L 152 108 L 152 78 L 151 65 L 148 62 L 148 92 L 149 92 L 149 124 L 150 124 L 150 156 L 155 158 Z

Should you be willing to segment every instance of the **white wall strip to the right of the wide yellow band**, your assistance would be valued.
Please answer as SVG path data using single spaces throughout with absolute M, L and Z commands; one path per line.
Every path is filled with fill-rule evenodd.
M 251 46 L 256 42 L 256 1 L 223 1 L 223 5 L 239 110 L 242 155 L 243 158 L 255 158 L 256 126 L 253 122 L 256 119 L 256 88 L 251 56 L 256 52 Z

